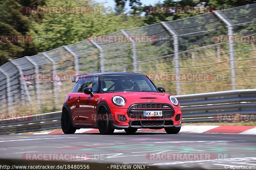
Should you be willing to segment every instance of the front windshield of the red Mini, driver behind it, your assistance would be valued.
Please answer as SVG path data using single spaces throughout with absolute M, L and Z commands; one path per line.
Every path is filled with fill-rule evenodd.
M 148 91 L 158 92 L 146 76 L 141 75 L 105 75 L 101 76 L 101 92 Z

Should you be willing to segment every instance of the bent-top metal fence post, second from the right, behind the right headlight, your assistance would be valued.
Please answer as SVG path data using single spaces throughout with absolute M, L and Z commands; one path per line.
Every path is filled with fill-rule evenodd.
M 179 39 L 178 35 L 165 23 L 161 22 L 161 24 L 168 30 L 173 36 L 173 48 L 174 48 L 174 69 L 175 69 L 175 84 L 176 84 L 176 92 L 177 95 L 180 95 L 180 79 L 177 78 L 180 75 L 180 63 L 179 63 Z

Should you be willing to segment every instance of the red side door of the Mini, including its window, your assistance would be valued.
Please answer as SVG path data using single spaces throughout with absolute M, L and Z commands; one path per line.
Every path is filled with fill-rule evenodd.
M 85 79 L 84 88 L 90 87 L 93 93 L 98 92 L 98 77 L 87 77 Z M 77 101 L 76 117 L 80 125 L 95 126 L 96 124 L 96 98 L 98 95 L 86 95 L 80 93 Z

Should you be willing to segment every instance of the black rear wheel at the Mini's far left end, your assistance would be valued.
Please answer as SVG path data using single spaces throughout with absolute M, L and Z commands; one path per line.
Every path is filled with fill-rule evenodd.
M 65 134 L 74 134 L 76 132 L 76 128 L 72 126 L 72 122 L 67 109 L 62 110 L 61 129 Z

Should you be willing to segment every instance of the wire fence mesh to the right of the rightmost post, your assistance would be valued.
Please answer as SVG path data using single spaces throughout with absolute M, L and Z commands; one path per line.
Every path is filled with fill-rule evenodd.
M 237 89 L 256 87 L 256 4 L 221 10 L 233 27 Z M 227 40 L 223 34 L 222 41 Z

